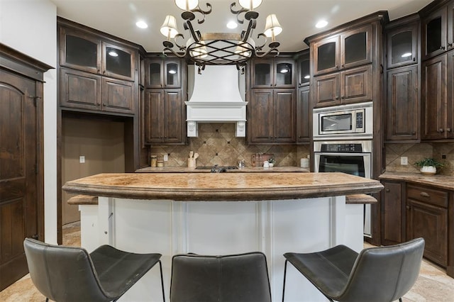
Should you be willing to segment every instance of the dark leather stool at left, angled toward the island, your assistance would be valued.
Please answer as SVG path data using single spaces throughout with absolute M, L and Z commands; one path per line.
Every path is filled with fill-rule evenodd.
M 26 238 L 28 270 L 38 291 L 53 301 L 116 301 L 155 264 L 160 254 L 135 254 L 102 245 L 88 253 L 82 247 L 49 245 Z

